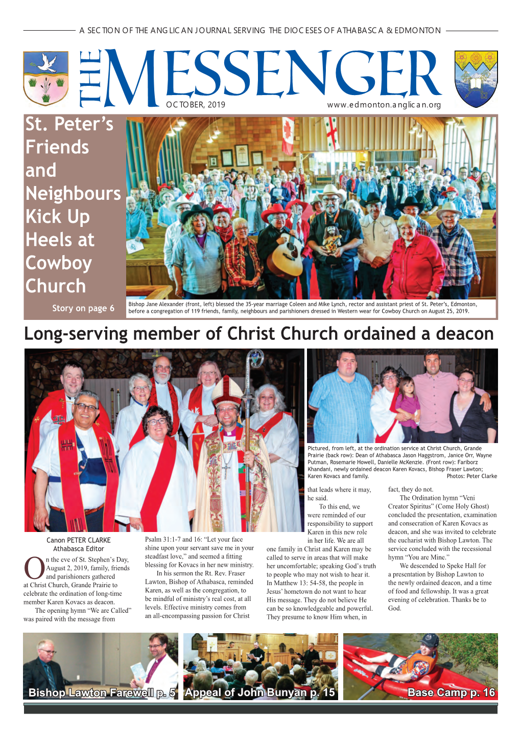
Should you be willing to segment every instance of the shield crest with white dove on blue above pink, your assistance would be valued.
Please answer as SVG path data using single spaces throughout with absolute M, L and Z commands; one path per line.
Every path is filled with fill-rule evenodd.
M 67 51 L 24 51 L 24 93 L 39 105 L 62 100 L 69 89 Z

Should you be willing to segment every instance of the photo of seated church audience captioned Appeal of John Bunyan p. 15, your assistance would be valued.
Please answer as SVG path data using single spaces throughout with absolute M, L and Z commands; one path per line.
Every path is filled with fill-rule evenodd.
M 183 700 L 338 700 L 338 634 L 185 633 Z

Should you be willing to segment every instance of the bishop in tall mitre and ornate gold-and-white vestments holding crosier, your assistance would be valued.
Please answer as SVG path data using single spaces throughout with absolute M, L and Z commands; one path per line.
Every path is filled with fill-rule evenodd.
M 277 532 L 271 464 L 264 438 L 250 432 L 249 450 L 239 419 L 242 389 L 224 376 L 212 392 L 219 429 L 205 437 L 197 473 L 194 533 L 246 531 L 245 466 L 250 468 L 249 531 Z

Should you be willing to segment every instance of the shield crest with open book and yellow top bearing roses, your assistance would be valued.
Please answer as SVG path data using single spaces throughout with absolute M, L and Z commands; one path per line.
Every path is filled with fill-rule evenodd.
M 497 51 L 457 51 L 454 57 L 459 97 L 474 108 L 488 103 L 497 87 Z

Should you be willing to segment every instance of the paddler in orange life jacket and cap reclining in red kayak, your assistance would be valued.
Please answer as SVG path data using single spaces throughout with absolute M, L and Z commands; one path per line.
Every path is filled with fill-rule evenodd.
M 434 669 L 438 660 L 438 644 L 437 634 L 427 633 L 420 642 L 419 651 L 415 651 L 406 659 L 389 653 L 371 658 L 362 655 L 360 658 L 370 662 L 368 664 L 363 664 L 356 659 L 352 660 L 366 671 L 373 671 L 379 677 L 392 675 L 394 682 L 417 682 L 420 677 L 429 674 Z

